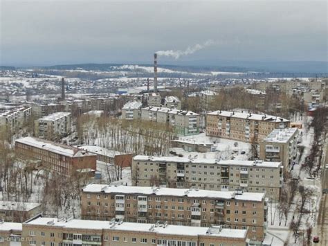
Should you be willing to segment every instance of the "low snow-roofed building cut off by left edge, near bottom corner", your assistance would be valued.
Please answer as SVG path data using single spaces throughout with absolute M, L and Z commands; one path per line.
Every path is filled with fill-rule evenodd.
M 0 220 L 24 222 L 41 213 L 41 204 L 36 202 L 0 201 Z

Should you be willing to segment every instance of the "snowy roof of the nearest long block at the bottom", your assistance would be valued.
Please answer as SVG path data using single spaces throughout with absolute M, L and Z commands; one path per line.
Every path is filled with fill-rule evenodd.
M 26 225 L 64 227 L 67 229 L 94 229 L 110 231 L 138 231 L 165 235 L 213 236 L 225 238 L 246 238 L 246 229 L 225 229 L 215 227 L 186 227 L 181 225 L 156 225 L 133 222 L 109 222 L 99 220 L 58 220 L 57 218 L 35 218 L 24 222 Z

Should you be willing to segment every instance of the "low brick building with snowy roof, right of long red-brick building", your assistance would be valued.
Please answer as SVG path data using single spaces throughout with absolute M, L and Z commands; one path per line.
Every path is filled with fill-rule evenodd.
M 78 146 L 78 148 L 97 155 L 98 161 L 103 161 L 107 164 L 113 164 L 122 168 L 130 167 L 132 164 L 132 154 L 108 150 L 99 146 Z

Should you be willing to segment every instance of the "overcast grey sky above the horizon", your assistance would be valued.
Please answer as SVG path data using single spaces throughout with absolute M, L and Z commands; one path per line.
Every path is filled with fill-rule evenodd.
M 208 39 L 179 60 L 327 61 L 327 1 L 0 3 L 2 65 L 151 63 Z

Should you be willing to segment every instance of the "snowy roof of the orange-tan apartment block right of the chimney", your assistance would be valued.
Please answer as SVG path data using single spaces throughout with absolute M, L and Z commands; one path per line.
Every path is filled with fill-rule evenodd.
M 240 113 L 240 112 L 231 112 L 231 111 L 223 111 L 217 110 L 215 112 L 210 112 L 208 115 L 217 115 L 231 118 L 245 118 L 249 120 L 255 121 L 268 121 L 268 122 L 289 122 L 286 118 L 281 118 L 278 116 L 272 116 L 268 114 L 253 114 L 253 113 Z

